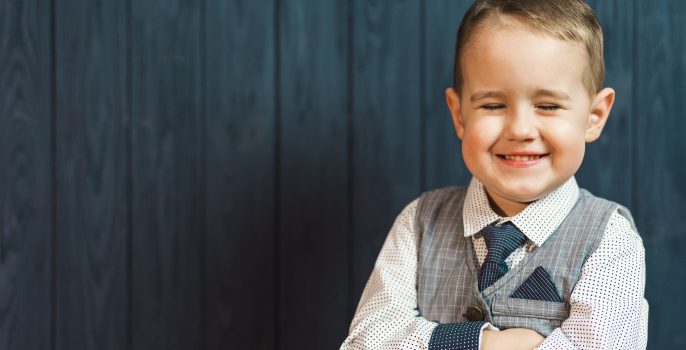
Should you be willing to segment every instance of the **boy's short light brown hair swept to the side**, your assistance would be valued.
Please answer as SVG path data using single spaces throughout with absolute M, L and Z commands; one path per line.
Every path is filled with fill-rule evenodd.
M 589 64 L 583 83 L 594 95 L 605 80 L 603 32 L 593 10 L 582 0 L 477 0 L 467 10 L 457 32 L 453 86 L 462 87 L 461 55 L 465 44 L 486 21 L 498 21 L 501 16 L 513 16 L 535 30 L 561 40 L 583 44 Z

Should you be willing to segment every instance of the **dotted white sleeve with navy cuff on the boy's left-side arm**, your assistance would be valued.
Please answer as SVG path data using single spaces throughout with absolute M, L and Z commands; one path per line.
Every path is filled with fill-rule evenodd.
M 419 316 L 414 232 L 417 204 L 418 200 L 414 200 L 396 218 L 341 350 L 479 349 L 481 332 L 490 324 L 438 324 Z

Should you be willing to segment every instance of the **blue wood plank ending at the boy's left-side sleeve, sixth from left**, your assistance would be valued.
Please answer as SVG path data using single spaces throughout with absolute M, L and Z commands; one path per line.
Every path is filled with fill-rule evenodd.
M 420 192 L 419 1 L 354 2 L 353 300 Z M 356 304 L 355 304 L 356 305 Z

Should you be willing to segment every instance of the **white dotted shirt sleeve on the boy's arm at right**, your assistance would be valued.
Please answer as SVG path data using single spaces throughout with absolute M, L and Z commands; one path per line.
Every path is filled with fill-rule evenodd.
M 615 212 L 570 296 L 569 317 L 536 349 L 645 349 L 645 250 Z

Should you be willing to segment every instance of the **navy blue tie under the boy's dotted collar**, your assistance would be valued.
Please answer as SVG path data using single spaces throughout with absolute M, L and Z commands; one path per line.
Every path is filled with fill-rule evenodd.
M 479 291 L 488 288 L 505 275 L 508 270 L 505 259 L 526 242 L 522 231 L 509 221 L 499 227 L 488 225 L 481 233 L 486 241 L 488 253 L 479 271 Z

